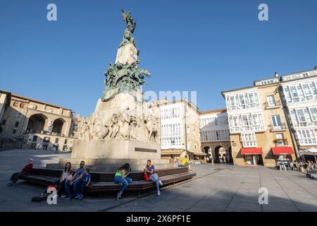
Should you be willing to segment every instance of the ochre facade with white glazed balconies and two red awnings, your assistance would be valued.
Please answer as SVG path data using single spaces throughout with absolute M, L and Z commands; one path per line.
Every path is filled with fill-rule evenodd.
M 275 77 L 222 92 L 235 165 L 273 167 L 280 160 L 296 159 L 279 85 Z

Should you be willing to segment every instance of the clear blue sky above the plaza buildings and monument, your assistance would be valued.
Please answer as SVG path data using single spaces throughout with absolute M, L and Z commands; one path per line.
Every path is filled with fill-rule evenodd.
M 199 109 L 225 107 L 221 90 L 317 66 L 316 0 L 1 0 L 0 89 L 94 112 L 125 28 L 120 8 L 137 21 L 144 90 L 197 90 Z

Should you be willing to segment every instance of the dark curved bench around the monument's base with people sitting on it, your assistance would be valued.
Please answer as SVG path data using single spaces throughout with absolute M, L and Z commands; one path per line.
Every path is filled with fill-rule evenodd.
M 163 186 L 169 184 L 175 184 L 178 182 L 185 181 L 187 179 L 192 179 L 196 176 L 196 173 L 189 172 L 187 167 L 174 167 L 166 169 L 156 169 L 157 174 Z M 25 180 L 33 184 L 39 185 L 52 185 L 58 182 L 62 174 L 62 169 L 39 169 L 34 168 L 28 175 L 23 175 L 20 179 Z M 92 176 L 92 182 L 89 186 L 85 187 L 85 192 L 87 193 L 100 193 L 104 191 L 119 191 L 120 186 L 113 182 L 114 172 L 90 172 Z M 132 183 L 129 184 L 127 190 L 129 191 L 144 191 L 146 189 L 155 188 L 156 184 L 154 182 L 147 182 L 143 179 L 143 171 L 132 172 L 129 177 L 132 178 Z

